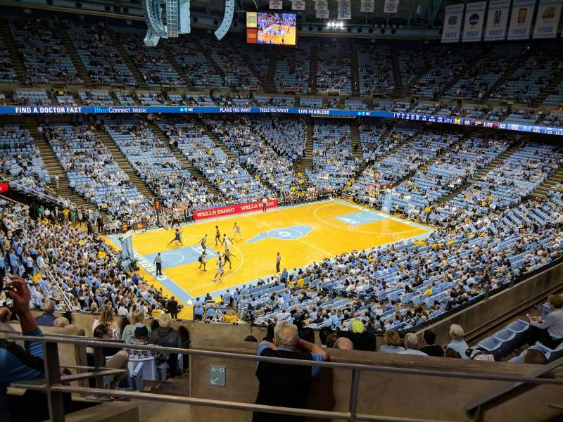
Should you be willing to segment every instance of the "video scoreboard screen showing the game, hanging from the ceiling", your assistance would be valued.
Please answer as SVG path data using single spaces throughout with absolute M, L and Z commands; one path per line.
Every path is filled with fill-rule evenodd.
M 296 44 L 296 13 L 246 12 L 248 44 Z

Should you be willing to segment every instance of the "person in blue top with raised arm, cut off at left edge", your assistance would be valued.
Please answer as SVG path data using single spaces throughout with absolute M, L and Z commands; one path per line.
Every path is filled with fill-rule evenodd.
M 42 337 L 43 333 L 35 324 L 30 311 L 30 290 L 24 279 L 10 277 L 11 283 L 6 286 L 6 294 L 13 300 L 13 312 L 20 320 L 24 335 Z M 0 291 L 4 286 L 0 286 Z M 42 343 L 26 341 L 25 349 L 13 342 L 0 339 L 0 415 L 2 420 L 9 421 L 6 388 L 16 381 L 44 378 Z M 6 416 L 6 418 L 4 418 Z

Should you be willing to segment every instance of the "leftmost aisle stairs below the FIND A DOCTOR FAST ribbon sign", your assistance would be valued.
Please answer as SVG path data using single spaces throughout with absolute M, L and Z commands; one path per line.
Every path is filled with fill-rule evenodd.
M 51 191 L 57 193 L 63 198 L 70 199 L 71 202 L 77 207 L 85 207 L 89 208 L 90 210 L 96 210 L 96 205 L 90 203 L 87 199 L 78 195 L 75 191 L 72 190 L 72 188 L 70 188 L 68 184 L 68 177 L 63 170 L 63 167 L 61 167 L 61 164 L 58 162 L 55 153 L 49 145 L 49 142 L 46 141 L 43 136 L 40 136 L 39 132 L 37 131 L 38 124 L 37 120 L 35 120 L 35 117 L 25 116 L 25 126 L 27 127 L 27 129 L 29 129 L 35 145 L 37 146 L 37 148 L 39 148 L 41 158 L 43 159 L 45 167 L 49 172 L 51 182 L 48 186 Z M 58 190 L 55 183 L 55 174 L 58 174 Z

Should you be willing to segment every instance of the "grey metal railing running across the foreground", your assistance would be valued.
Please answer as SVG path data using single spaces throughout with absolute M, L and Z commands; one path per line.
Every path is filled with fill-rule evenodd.
M 156 345 L 129 345 L 123 343 L 115 343 L 112 341 L 103 341 L 97 339 L 77 338 L 75 336 L 65 335 L 46 335 L 44 337 L 33 337 L 30 335 L 14 334 L 13 331 L 2 331 L 5 338 L 14 341 L 35 341 L 43 343 L 44 352 L 44 366 L 45 366 L 45 379 L 36 381 L 22 381 L 12 383 L 14 388 L 26 388 L 29 390 L 43 391 L 47 395 L 49 403 L 49 419 L 53 422 L 60 422 L 65 420 L 63 409 L 63 393 L 75 392 L 83 395 L 112 395 L 114 397 L 125 397 L 129 399 L 140 400 L 155 400 L 159 402 L 169 402 L 175 404 L 193 404 L 205 407 L 220 407 L 222 409 L 235 409 L 243 411 L 260 411 L 268 414 L 285 414 L 291 416 L 309 416 L 312 418 L 329 418 L 329 419 L 343 419 L 350 422 L 355 421 L 394 421 L 394 422 L 430 422 L 429 419 L 420 418 L 398 418 L 393 416 L 373 415 L 373 414 L 358 414 L 358 390 L 360 385 L 360 373 L 379 372 L 379 373 L 398 373 L 402 375 L 414 376 L 433 376 L 439 378 L 457 378 L 457 379 L 473 379 L 482 381 L 505 381 L 507 383 L 517 383 L 514 385 L 563 385 L 562 378 L 537 378 L 544 373 L 556 369 L 558 366 L 563 365 L 563 357 L 551 362 L 542 367 L 538 371 L 534 371 L 532 376 L 507 376 L 507 375 L 491 375 L 488 373 L 467 373 L 467 372 L 446 372 L 435 371 L 428 369 L 415 369 L 415 368 L 394 368 L 390 366 L 370 366 L 365 364 L 348 364 L 340 362 L 315 362 L 306 361 L 301 359 L 284 359 L 279 357 L 262 357 L 253 354 L 240 354 L 228 352 L 213 352 L 208 350 L 192 350 L 192 349 L 179 349 L 175 347 L 160 347 Z M 82 345 L 84 347 L 92 347 L 94 349 L 95 366 L 94 371 L 88 373 L 81 373 L 77 375 L 61 376 L 59 369 L 58 359 L 58 343 Z M 216 399 L 201 399 L 194 397 L 179 397 L 174 395 L 160 395 L 151 394 L 147 392 L 131 392 L 120 390 L 107 390 L 101 388 L 103 383 L 103 376 L 114 374 L 115 369 L 104 369 L 101 365 L 102 362 L 102 347 L 118 347 L 121 349 L 132 350 L 151 350 L 153 352 L 169 352 L 177 354 L 187 354 L 191 356 L 201 357 L 217 357 L 226 359 L 239 359 L 255 362 L 272 362 L 279 364 L 292 364 L 303 366 L 320 366 L 322 368 L 331 369 L 345 369 L 352 371 L 350 383 L 350 401 L 348 404 L 348 411 L 324 411 L 312 409 L 294 409 L 290 407 L 275 407 L 262 404 L 253 403 L 238 403 L 229 402 Z M 79 369 L 87 369 L 87 367 L 77 367 Z M 96 388 L 75 387 L 71 385 L 63 385 L 70 381 L 77 381 L 80 379 L 96 378 Z M 488 397 L 489 399 L 491 397 Z M 474 403 L 482 404 L 482 403 Z M 437 421 L 437 420 L 436 420 Z M 447 422 L 440 420 L 441 422 Z

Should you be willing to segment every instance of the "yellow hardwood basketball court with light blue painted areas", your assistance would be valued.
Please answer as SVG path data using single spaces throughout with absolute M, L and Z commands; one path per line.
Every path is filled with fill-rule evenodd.
M 230 247 L 236 255 L 232 257 L 232 269 L 227 265 L 222 281 L 213 281 L 217 252 L 224 252 L 221 245 L 215 246 L 215 226 L 232 238 L 234 222 L 241 227 L 243 238 L 234 239 Z M 166 280 L 161 277 L 156 285 L 164 286 L 185 303 L 205 293 L 215 297 L 226 288 L 274 274 L 277 252 L 281 254 L 281 269 L 293 269 L 350 250 L 427 236 L 431 231 L 430 227 L 352 203 L 327 200 L 186 224 L 182 226 L 183 246 L 167 245 L 174 238 L 173 230 L 134 234 L 133 248 L 148 262 L 153 262 L 157 252 L 162 253 Z M 199 241 L 205 234 L 207 271 L 198 269 L 197 262 Z

